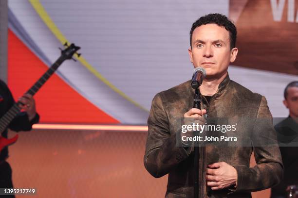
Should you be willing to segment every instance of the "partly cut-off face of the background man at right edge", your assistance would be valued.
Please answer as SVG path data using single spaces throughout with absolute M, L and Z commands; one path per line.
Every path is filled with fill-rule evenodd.
M 288 88 L 288 96 L 283 103 L 289 109 L 291 116 L 298 117 L 298 87 Z

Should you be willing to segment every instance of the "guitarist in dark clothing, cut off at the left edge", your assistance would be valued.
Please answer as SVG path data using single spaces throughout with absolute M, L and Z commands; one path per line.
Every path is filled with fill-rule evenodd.
M 39 121 L 39 115 L 36 112 L 35 100 L 29 94 L 23 95 L 19 98 L 21 112 L 16 118 L 12 120 L 9 129 L 19 132 L 19 131 L 30 131 L 32 125 Z M 5 84 L 5 82 L 0 80 L 0 117 L 2 117 L 13 105 L 15 100 Z M 2 137 L 7 138 L 7 129 L 2 132 Z M 0 151 L 0 187 L 1 188 L 13 188 L 12 182 L 12 169 L 10 165 L 6 162 L 8 158 L 8 148 L 4 147 Z M 2 196 L 1 196 L 2 197 Z M 10 196 L 14 197 L 14 196 Z

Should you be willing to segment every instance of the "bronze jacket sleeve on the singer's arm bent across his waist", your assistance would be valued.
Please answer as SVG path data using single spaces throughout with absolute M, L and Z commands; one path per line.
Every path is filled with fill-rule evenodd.
M 238 184 L 235 189 L 237 192 L 251 192 L 270 188 L 277 185 L 283 177 L 283 165 L 277 136 L 265 97 L 261 99 L 253 131 L 252 143 L 254 145 L 254 140 L 256 140 L 253 151 L 257 165 L 252 168 L 245 165 L 234 166 L 238 173 Z

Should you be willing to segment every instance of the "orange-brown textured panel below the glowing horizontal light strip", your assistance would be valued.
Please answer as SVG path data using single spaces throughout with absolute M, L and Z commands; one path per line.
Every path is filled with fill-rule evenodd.
M 168 176 L 155 179 L 146 171 L 146 138 L 147 132 L 20 132 L 9 147 L 14 186 L 36 188 L 38 198 L 163 198 Z

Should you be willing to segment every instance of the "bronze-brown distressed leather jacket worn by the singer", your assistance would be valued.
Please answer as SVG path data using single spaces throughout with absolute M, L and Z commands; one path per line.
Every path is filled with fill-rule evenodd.
M 183 117 L 193 106 L 194 90 L 190 83 L 187 81 L 158 93 L 152 100 L 149 113 L 144 164 L 155 178 L 168 174 L 166 198 L 193 198 L 193 148 L 176 146 L 177 118 Z M 208 117 L 272 119 L 265 97 L 231 81 L 228 75 L 209 104 L 203 96 L 201 108 L 207 110 Z M 258 126 L 254 130 L 265 130 L 268 138 L 276 140 L 272 122 L 264 129 Z M 247 132 L 243 130 L 242 133 L 245 131 Z M 252 151 L 257 165 L 250 168 Z M 206 186 L 206 166 L 215 162 L 226 162 L 236 168 L 236 188 L 231 186 L 222 190 L 211 190 Z M 199 165 L 200 198 L 251 198 L 252 191 L 277 185 L 283 177 L 279 147 L 200 147 Z

